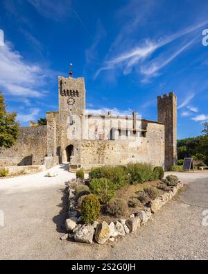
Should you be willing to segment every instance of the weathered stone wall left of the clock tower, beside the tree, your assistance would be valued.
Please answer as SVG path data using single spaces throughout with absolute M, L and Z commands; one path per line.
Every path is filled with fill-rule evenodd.
M 0 149 L 0 166 L 44 164 L 47 154 L 46 126 L 20 128 L 17 143 Z

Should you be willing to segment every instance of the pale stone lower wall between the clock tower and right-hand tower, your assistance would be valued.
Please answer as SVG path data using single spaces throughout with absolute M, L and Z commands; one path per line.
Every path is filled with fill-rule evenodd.
M 129 139 L 90 141 L 80 146 L 80 162 L 84 169 L 105 164 L 119 165 L 129 162 L 147 162 L 164 166 L 164 125 L 146 121 L 146 137 L 139 142 Z

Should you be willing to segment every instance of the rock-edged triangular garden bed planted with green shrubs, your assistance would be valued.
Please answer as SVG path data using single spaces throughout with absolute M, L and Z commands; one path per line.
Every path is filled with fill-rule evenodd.
M 68 183 L 69 218 L 67 234 L 84 243 L 107 243 L 135 232 L 151 214 L 168 202 L 182 188 L 176 176 L 164 177 L 162 167 L 149 164 L 102 166 L 76 173 Z

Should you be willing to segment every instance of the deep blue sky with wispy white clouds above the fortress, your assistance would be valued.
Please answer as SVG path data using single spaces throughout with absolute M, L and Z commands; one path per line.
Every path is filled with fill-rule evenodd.
M 58 76 L 85 77 L 87 108 L 157 119 L 174 91 L 178 138 L 208 121 L 207 0 L 0 0 L 0 89 L 22 125 L 58 110 Z

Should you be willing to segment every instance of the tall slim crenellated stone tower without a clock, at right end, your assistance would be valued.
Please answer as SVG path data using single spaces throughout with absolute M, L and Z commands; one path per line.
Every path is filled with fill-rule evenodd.
M 177 98 L 174 92 L 157 97 L 157 121 L 165 127 L 165 170 L 177 162 Z

